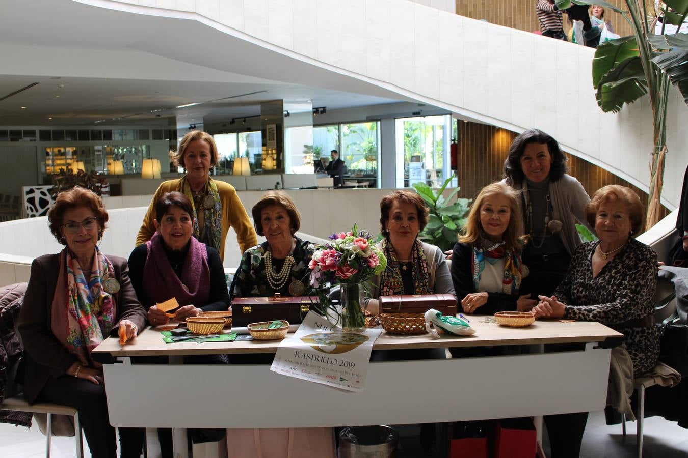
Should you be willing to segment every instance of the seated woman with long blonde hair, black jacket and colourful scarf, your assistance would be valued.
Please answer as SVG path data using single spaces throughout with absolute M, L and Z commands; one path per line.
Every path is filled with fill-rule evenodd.
M 525 312 L 537 304 L 519 296 L 524 273 L 518 200 L 504 183 L 492 183 L 473 201 L 451 262 L 451 279 L 466 314 Z

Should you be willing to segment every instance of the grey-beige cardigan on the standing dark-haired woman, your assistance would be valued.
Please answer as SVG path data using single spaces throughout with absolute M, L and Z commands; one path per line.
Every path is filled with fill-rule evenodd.
M 502 181 L 506 184 L 506 179 Z M 514 184 L 512 186 L 515 190 L 528 190 L 528 182 Z M 523 194 L 526 205 L 528 205 L 528 193 Z M 576 230 L 576 220 L 591 231 L 594 228 L 588 224 L 588 219 L 585 218 L 585 205 L 590 202 L 590 196 L 583 189 L 583 185 L 569 174 L 563 176 L 557 181 L 550 181 L 550 197 L 552 198 L 552 207 L 554 209 L 554 218 L 562 222 L 563 227 L 559 232 L 561 242 L 563 242 L 566 251 L 570 256 L 573 256 L 576 249 L 581 244 L 581 236 Z M 522 200 L 519 199 L 519 204 L 522 205 Z M 524 209 L 521 209 L 521 214 L 525 218 Z M 524 220 L 520 221 L 518 230 L 519 233 L 524 233 Z

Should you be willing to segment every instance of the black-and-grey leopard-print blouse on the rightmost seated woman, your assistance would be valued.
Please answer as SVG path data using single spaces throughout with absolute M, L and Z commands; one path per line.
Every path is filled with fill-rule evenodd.
M 621 332 L 634 374 L 640 375 L 657 363 L 659 336 L 654 325 L 635 328 L 624 323 L 654 314 L 657 255 L 646 244 L 630 238 L 593 278 L 592 254 L 598 244 L 588 242 L 578 247 L 555 295 L 567 306 L 565 318 L 599 321 Z

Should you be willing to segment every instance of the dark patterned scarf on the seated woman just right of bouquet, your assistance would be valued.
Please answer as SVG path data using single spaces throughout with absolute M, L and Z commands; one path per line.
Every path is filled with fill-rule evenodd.
M 380 279 L 380 295 L 394 296 L 404 294 L 404 283 L 401 279 L 399 271 L 399 261 L 396 259 L 396 252 L 394 247 L 387 239 L 383 240 L 383 252 L 387 257 L 387 268 L 383 272 Z M 420 240 L 416 239 L 413 242 L 411 249 L 411 274 L 413 275 L 413 287 L 415 294 L 433 294 L 434 291 L 430 288 L 430 271 L 428 268 L 428 260 L 423 252 L 423 245 Z

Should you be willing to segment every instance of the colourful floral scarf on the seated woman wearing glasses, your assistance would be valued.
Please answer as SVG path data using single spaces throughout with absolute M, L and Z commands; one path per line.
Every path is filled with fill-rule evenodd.
M 100 367 L 91 358 L 91 350 L 105 340 L 114 325 L 114 297 L 103 289 L 105 280 L 114 277 L 114 269 L 98 247 L 88 280 L 84 277 L 77 257 L 69 249 L 63 250 L 60 260 L 61 273 L 58 278 L 66 277 L 67 301 L 66 304 L 63 298 L 53 301 L 52 330 L 67 350 L 79 358 L 82 365 Z M 66 275 L 63 269 L 66 269 Z M 59 290 L 60 282 L 57 288 Z M 55 296 L 58 296 L 58 291 Z M 64 304 L 61 310 L 55 310 L 55 304 L 58 303 Z

